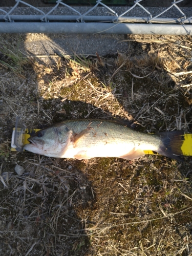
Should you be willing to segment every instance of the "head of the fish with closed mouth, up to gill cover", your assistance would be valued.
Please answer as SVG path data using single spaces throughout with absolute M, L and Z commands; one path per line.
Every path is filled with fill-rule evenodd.
M 49 157 L 62 157 L 71 142 L 72 131 L 65 124 L 42 129 L 32 135 L 24 150 Z

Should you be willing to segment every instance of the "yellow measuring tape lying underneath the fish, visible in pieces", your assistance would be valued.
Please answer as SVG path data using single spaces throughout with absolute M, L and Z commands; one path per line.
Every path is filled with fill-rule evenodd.
M 25 129 L 24 133 L 21 135 L 22 136 L 22 138 L 21 138 L 22 144 L 23 145 L 29 144 L 28 139 L 31 136 L 31 134 L 34 134 L 39 130 L 40 129 Z M 13 128 L 13 133 L 14 133 L 14 131 L 15 131 L 15 128 Z M 184 139 L 185 140 L 183 141 L 183 145 L 181 147 L 183 156 L 192 156 L 192 134 L 186 133 L 184 135 Z M 17 151 L 15 146 L 13 145 L 13 143 L 11 143 L 11 151 Z M 144 152 L 145 152 L 145 154 L 148 154 L 148 155 L 157 155 L 156 152 L 153 152 L 151 150 L 146 150 Z

